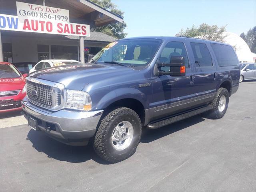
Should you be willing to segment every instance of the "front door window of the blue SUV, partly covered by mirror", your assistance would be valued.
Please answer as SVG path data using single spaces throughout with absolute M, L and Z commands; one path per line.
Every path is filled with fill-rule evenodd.
M 168 42 L 164 47 L 161 56 L 158 58 L 158 61 L 162 63 L 170 63 L 172 56 L 184 56 L 185 66 L 189 67 L 188 56 L 183 42 Z M 161 70 L 169 72 L 170 67 L 162 67 Z

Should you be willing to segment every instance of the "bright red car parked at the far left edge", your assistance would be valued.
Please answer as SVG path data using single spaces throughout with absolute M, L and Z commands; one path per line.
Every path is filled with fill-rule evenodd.
M 26 76 L 14 65 L 0 62 L 0 113 L 21 110 L 21 100 L 26 96 Z

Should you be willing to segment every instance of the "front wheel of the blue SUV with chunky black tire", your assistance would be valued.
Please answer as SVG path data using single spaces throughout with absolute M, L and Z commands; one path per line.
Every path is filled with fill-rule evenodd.
M 94 137 L 94 150 L 104 160 L 116 163 L 132 156 L 140 142 L 142 126 L 130 108 L 117 108 L 101 121 Z

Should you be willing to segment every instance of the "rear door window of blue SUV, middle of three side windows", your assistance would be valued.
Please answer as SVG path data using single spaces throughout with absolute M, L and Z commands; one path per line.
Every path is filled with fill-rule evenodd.
M 212 58 L 206 44 L 190 43 L 190 45 L 193 50 L 196 67 L 212 66 Z

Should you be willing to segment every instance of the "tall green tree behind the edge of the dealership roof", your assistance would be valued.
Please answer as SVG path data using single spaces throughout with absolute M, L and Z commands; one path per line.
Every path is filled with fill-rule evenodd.
M 105 8 L 106 10 L 119 15 L 123 18 L 124 12 L 118 9 L 118 6 L 116 4 L 112 3 L 111 0 L 90 0 L 91 2 L 97 4 L 98 6 L 101 6 Z M 97 32 L 102 32 L 104 34 L 107 34 L 109 36 L 122 39 L 125 38 L 127 33 L 124 32 L 124 28 L 126 28 L 126 23 L 125 22 L 117 22 L 113 24 L 108 24 L 106 26 L 101 26 L 92 29 L 92 31 L 97 31 Z

